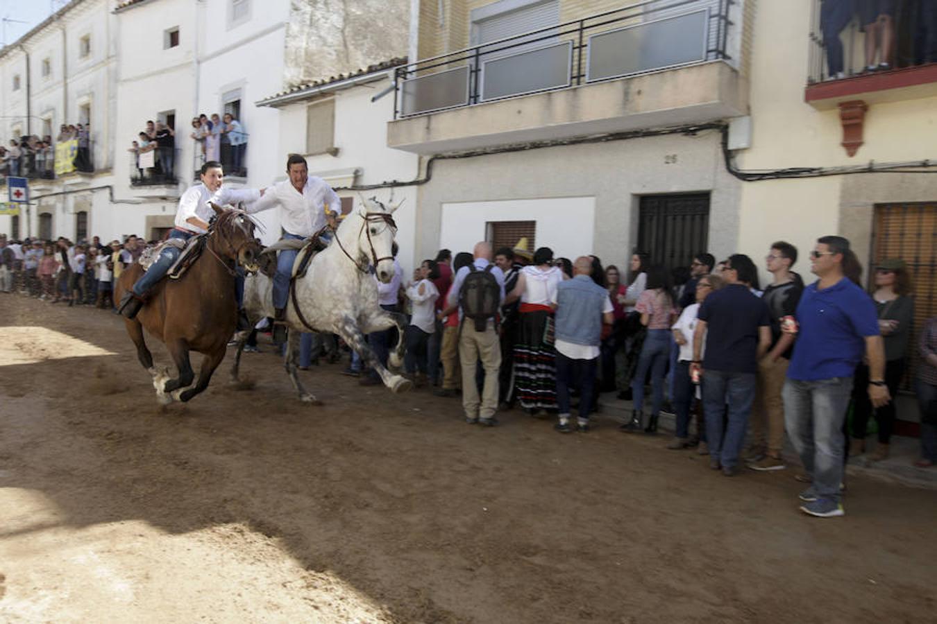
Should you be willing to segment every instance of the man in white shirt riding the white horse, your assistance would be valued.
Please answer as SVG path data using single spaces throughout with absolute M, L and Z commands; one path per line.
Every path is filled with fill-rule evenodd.
M 263 190 L 259 201 L 247 207 L 247 212 L 280 207 L 280 225 L 284 239 L 303 240 L 318 234 L 326 225 L 335 227 L 335 214 L 341 209 L 341 200 L 329 184 L 309 176 L 305 158 L 291 153 L 287 158 L 289 180 L 279 181 Z M 274 277 L 274 342 L 286 340 L 286 308 L 290 295 L 290 278 L 299 250 L 284 249 L 276 259 Z

